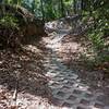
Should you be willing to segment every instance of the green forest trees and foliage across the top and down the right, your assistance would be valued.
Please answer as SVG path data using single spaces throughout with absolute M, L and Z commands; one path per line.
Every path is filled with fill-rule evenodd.
M 108 41 L 105 43 L 109 35 L 108 0 L 0 0 L 0 2 L 24 7 L 44 22 L 77 14 L 81 22 L 87 25 L 86 34 L 96 53 L 101 56 L 108 49 Z M 17 21 L 17 17 L 13 17 L 12 14 L 7 13 L 5 16 L 0 16 L 1 25 L 16 27 Z M 104 57 L 101 60 L 109 59 Z

